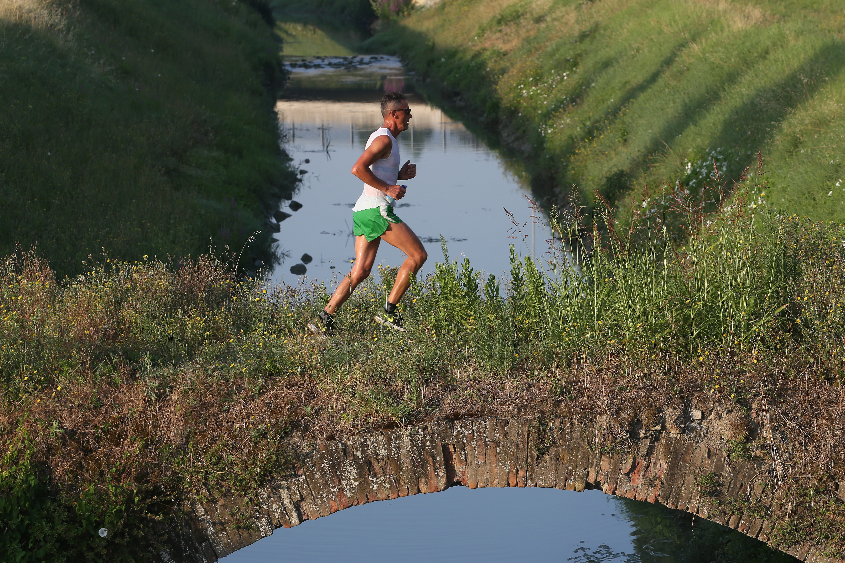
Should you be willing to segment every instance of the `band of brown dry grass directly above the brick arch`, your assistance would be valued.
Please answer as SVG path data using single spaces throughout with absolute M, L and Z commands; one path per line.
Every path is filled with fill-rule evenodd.
M 261 359 L 258 371 L 264 373 L 259 375 L 249 369 L 244 373 L 243 359 L 234 370 L 208 357 L 178 365 L 165 361 L 155 369 L 145 357 L 128 360 L 120 349 L 111 361 L 97 363 L 82 351 L 90 344 L 84 338 L 71 376 L 53 376 L 25 402 L 5 404 L 0 427 L 6 446 L 18 429 L 25 429 L 55 482 L 73 488 L 98 482 L 117 467 L 118 480 L 127 483 L 166 485 L 188 479 L 188 490 L 201 493 L 218 483 L 226 487 L 215 471 L 263 464 L 261 454 L 273 452 L 264 449 L 264 436 L 256 441 L 259 430 L 270 431 L 274 440 L 292 428 L 309 440 L 324 440 L 379 427 L 497 414 L 613 420 L 627 432 L 647 423 L 646 413 L 655 409 L 713 403 L 736 408 L 738 401 L 728 394 L 741 393 L 739 403 L 748 409 L 762 412 L 762 403 L 767 405 L 769 423 L 761 436 L 789 436 L 791 459 L 784 462 L 782 479 L 825 471 L 845 476 L 845 392 L 820 377 L 801 352 L 753 365 L 701 367 L 672 353 L 655 360 L 645 354 L 585 352 L 549 365 L 531 358 L 505 374 L 466 358 L 460 366 L 449 365 L 458 360 L 447 355 L 438 358 L 433 371 L 412 379 L 396 373 L 397 365 L 379 373 L 376 365 L 388 361 L 384 356 L 351 358 L 360 362 L 357 369 L 326 373 L 319 362 L 328 351 L 308 334 L 285 331 L 277 338 L 289 345 L 285 355 L 311 356 L 299 364 L 299 373 L 274 373 L 267 369 L 267 358 Z M 439 345 L 451 340 L 441 337 Z M 716 381 L 724 391 L 714 389 Z M 225 459 L 213 455 L 221 449 Z

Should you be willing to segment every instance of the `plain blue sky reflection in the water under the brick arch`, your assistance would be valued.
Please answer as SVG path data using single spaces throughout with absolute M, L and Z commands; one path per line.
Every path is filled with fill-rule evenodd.
M 226 563 L 629 560 L 633 528 L 598 491 L 452 487 L 276 530 Z

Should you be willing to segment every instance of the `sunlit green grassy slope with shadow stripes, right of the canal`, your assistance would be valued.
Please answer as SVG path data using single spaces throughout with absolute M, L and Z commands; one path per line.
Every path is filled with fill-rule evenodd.
M 814 0 L 446 0 L 365 43 L 519 155 L 547 203 L 630 214 L 766 156 L 768 203 L 841 220 L 845 20 Z

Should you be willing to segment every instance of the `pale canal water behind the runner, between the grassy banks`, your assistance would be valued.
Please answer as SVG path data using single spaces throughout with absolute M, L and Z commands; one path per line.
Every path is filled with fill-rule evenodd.
M 286 149 L 303 175 L 303 187 L 280 209 L 289 216 L 280 215 L 276 236 L 288 258 L 271 281 L 297 283 L 304 271 L 309 280 L 331 285 L 336 273 L 348 271 L 354 257 L 351 209 L 363 184 L 350 169 L 370 133 L 381 125 L 379 100 L 384 89 L 404 86 L 407 91 L 408 86 L 395 57 L 312 57 L 289 65 L 293 87 L 276 111 Z M 350 84 L 368 88 L 347 87 Z M 413 117 L 398 140 L 402 160 L 417 163 L 418 173 L 404 182 L 408 193 L 395 211 L 429 246 L 434 260 L 439 259 L 441 235 L 452 257 L 470 257 L 475 268 L 496 275 L 510 268 L 511 242 L 519 243 L 521 252 L 534 248 L 542 253 L 548 231 L 536 229 L 533 246 L 530 221 L 525 246 L 521 235 L 510 232 L 513 225 L 504 208 L 520 225 L 532 211 L 525 198 L 528 192 L 498 154 L 421 96 L 406 95 Z M 306 253 L 313 257 L 308 265 L 298 260 Z M 380 263 L 398 265 L 402 259 L 389 245 L 379 249 Z

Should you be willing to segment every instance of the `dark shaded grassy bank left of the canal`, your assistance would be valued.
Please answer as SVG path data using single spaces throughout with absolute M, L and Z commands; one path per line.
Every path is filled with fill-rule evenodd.
M 260 3 L 9 0 L 0 6 L 0 252 L 60 277 L 115 257 L 238 251 L 296 186 Z M 246 258 L 249 252 L 244 253 Z

